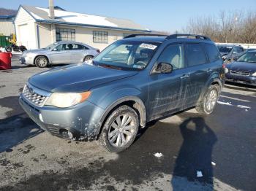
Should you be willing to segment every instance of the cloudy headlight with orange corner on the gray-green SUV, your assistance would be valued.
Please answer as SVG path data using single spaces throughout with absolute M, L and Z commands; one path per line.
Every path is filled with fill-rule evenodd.
M 89 98 L 91 92 L 83 93 L 53 93 L 45 102 L 45 105 L 56 107 L 69 107 L 80 104 Z

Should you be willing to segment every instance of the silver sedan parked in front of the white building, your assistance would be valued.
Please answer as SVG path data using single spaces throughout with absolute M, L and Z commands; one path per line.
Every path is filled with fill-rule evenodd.
M 72 41 L 61 41 L 48 47 L 23 52 L 20 63 L 36 65 L 40 68 L 61 63 L 80 63 L 89 61 L 99 53 L 98 49 L 87 44 Z

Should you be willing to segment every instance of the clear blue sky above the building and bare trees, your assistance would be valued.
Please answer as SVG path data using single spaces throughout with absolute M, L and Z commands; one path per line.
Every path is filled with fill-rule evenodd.
M 192 17 L 227 12 L 256 12 L 256 0 L 53 0 L 70 12 L 133 20 L 157 31 L 182 31 Z M 1 0 L 0 7 L 18 9 L 20 4 L 48 7 L 48 0 Z

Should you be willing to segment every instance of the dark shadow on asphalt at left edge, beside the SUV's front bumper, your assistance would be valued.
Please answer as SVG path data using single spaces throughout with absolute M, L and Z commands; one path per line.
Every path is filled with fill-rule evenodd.
M 43 132 L 23 112 L 18 104 L 18 96 L 0 98 L 0 106 L 6 116 L 0 120 L 0 153 L 11 152 L 12 147 Z

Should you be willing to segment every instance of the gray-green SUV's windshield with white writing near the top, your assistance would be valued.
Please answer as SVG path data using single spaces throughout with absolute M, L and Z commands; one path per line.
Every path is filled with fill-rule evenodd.
M 158 45 L 156 42 L 115 42 L 97 55 L 93 62 L 116 69 L 141 70 L 148 65 Z

